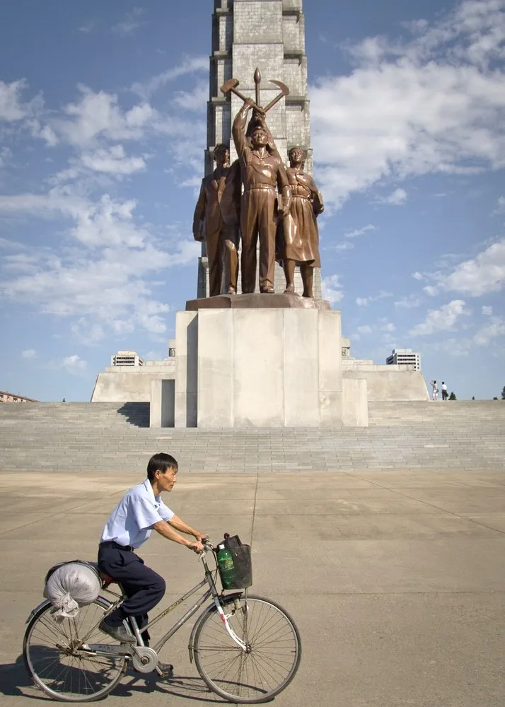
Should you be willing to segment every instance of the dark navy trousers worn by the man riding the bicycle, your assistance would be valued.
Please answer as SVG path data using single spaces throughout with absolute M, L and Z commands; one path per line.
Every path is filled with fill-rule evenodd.
M 100 545 L 98 568 L 120 583 L 128 597 L 119 609 L 107 617 L 107 623 L 110 626 L 120 626 L 126 617 L 134 617 L 139 629 L 146 626 L 147 612 L 156 607 L 165 594 L 163 577 L 146 567 L 144 560 L 134 552 L 119 547 Z M 145 631 L 142 638 L 144 642 L 149 641 L 149 633 Z

